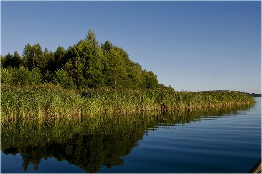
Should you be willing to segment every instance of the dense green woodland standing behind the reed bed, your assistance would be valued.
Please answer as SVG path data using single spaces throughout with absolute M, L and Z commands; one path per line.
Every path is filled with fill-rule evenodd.
M 1 56 L 1 83 L 31 85 L 53 83 L 64 88 L 155 89 L 152 71 L 142 70 L 126 51 L 108 40 L 99 45 L 89 29 L 84 40 L 55 52 L 42 50 L 39 44 L 25 45 L 23 55 L 14 52 Z

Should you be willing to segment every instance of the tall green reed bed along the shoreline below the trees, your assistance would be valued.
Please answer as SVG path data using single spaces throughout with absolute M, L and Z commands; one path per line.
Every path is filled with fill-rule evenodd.
M 1 84 L 1 120 L 81 118 L 87 115 L 193 109 L 254 102 L 253 97 L 234 91 L 72 90 L 50 85 L 21 87 Z

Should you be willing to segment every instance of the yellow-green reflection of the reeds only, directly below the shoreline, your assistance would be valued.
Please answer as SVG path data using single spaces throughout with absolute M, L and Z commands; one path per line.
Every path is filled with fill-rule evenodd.
M 119 137 L 143 137 L 143 133 L 158 126 L 185 125 L 202 118 L 216 119 L 238 111 L 246 111 L 250 104 L 215 108 L 149 111 L 146 114 L 123 113 L 82 118 L 46 118 L 45 120 L 7 120 L 1 123 L 1 150 L 27 146 L 44 146 L 50 143 L 64 144 L 76 135 L 119 135 Z M 26 138 L 25 138 L 26 137 Z M 99 136 L 97 136 L 99 137 Z M 139 138 L 138 138 L 139 139 Z M 55 144 L 55 143 L 54 143 Z

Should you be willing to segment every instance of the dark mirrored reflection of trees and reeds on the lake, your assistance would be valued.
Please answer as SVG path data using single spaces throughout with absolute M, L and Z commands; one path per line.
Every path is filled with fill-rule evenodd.
M 185 125 L 203 118 L 247 111 L 251 105 L 175 110 L 139 114 L 105 115 L 78 119 L 47 119 L 1 123 L 1 150 L 20 153 L 22 168 L 34 170 L 42 159 L 66 160 L 89 173 L 106 166 L 124 165 L 124 156 L 138 146 L 149 130 Z

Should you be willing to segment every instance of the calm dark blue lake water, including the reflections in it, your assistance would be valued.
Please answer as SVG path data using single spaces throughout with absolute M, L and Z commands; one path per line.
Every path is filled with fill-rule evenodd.
M 247 173 L 261 158 L 252 105 L 1 123 L 1 173 Z

